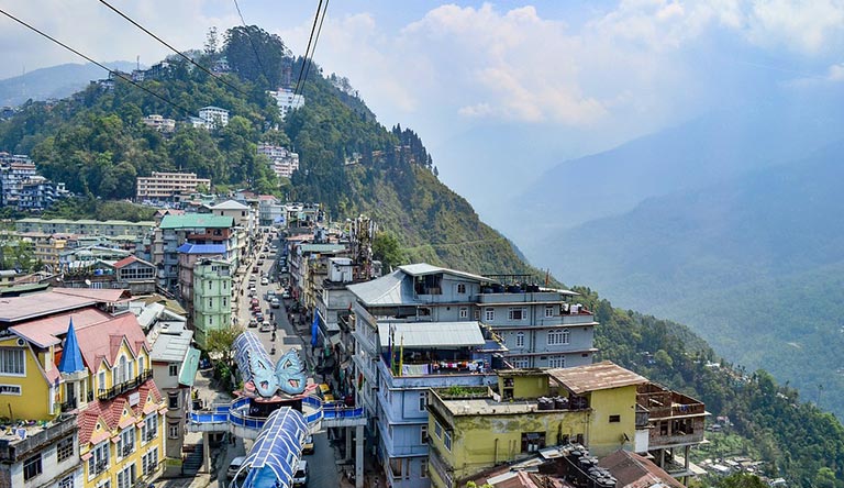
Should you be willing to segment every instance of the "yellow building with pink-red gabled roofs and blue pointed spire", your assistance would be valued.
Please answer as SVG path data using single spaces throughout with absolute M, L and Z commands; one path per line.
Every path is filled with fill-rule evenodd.
M 0 388 L 18 393 L 3 400 L 19 418 L 77 414 L 82 466 L 76 486 L 127 488 L 158 476 L 167 407 L 135 315 L 77 308 L 9 332 L 0 363 L 14 370 L 3 371 Z

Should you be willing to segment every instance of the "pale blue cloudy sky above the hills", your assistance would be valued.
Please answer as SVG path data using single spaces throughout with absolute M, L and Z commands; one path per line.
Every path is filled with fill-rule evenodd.
M 151 65 L 169 52 L 96 0 L 0 9 L 90 57 Z M 179 48 L 241 24 L 234 1 L 113 0 Z M 240 0 L 246 23 L 308 43 L 316 1 Z M 441 179 L 479 213 L 567 158 L 715 107 L 844 86 L 844 0 L 329 4 L 315 62 L 349 79 L 387 126 L 415 130 Z M 76 63 L 0 16 L 0 78 Z

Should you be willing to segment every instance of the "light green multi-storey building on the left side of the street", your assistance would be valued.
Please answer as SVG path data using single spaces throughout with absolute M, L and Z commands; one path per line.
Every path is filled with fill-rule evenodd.
M 204 259 L 193 266 L 193 330 L 200 347 L 211 331 L 231 326 L 232 300 L 231 263 Z

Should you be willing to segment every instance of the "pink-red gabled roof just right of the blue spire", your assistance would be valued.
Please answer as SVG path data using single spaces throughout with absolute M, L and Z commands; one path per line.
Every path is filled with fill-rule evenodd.
M 124 313 L 106 322 L 78 328 L 76 336 L 79 340 L 79 348 L 85 365 L 91 371 L 99 368 L 102 359 L 106 359 L 109 366 L 113 366 L 120 345 L 124 340 L 135 357 L 142 347 L 149 350 L 144 331 L 137 323 L 137 318 L 132 313 Z

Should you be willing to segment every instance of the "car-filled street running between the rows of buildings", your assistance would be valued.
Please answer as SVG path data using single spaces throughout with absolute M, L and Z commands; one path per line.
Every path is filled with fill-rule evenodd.
M 276 340 L 273 341 L 273 333 L 271 332 L 259 332 L 258 328 L 248 328 L 247 330 L 253 332 L 255 335 L 258 336 L 262 344 L 264 344 L 264 347 L 267 350 L 267 353 L 270 353 L 273 351 L 273 347 L 276 348 L 276 354 L 270 354 L 270 357 L 273 359 L 278 359 L 281 357 L 282 354 L 285 354 L 290 348 L 296 348 L 299 351 L 299 356 L 302 361 L 307 362 L 307 371 L 309 374 L 313 374 L 313 365 L 310 363 L 310 359 L 308 358 L 308 355 L 302 351 L 304 346 L 307 346 L 307 341 L 309 337 L 302 339 L 296 333 L 296 330 L 290 324 L 290 322 L 287 320 L 287 311 L 285 310 L 285 306 L 288 303 L 282 304 L 278 309 L 270 308 L 269 302 L 266 300 L 267 290 L 275 290 L 279 298 L 280 298 L 280 285 L 278 282 L 269 282 L 268 285 L 260 285 L 260 277 L 262 271 L 264 273 L 264 276 L 270 277 L 276 275 L 275 273 L 275 266 L 276 266 L 276 254 L 273 253 L 273 251 L 269 248 L 271 244 L 275 244 L 277 248 L 281 248 L 281 243 L 278 242 L 278 240 L 275 241 L 265 241 L 262 243 L 260 246 L 256 246 L 256 252 L 258 255 L 265 254 L 266 257 L 264 259 L 264 264 L 253 265 L 247 270 L 249 276 L 256 276 L 256 291 L 257 291 L 257 298 L 260 301 L 260 309 L 264 312 L 264 314 L 267 317 L 267 320 L 269 320 L 269 313 L 273 313 L 273 320 L 270 323 L 276 329 Z M 264 247 L 267 247 L 268 251 L 264 251 Z M 257 263 L 257 256 L 253 258 L 254 263 Z M 258 273 L 252 273 L 253 268 L 258 268 Z M 248 290 L 248 277 L 244 280 L 245 288 Z M 252 312 L 249 311 L 249 300 L 251 297 L 247 296 L 248 291 L 245 291 L 244 295 L 240 298 L 240 310 L 238 310 L 238 321 L 242 324 L 248 324 L 249 319 L 252 318 Z M 341 486 L 340 484 L 340 473 L 338 467 L 336 464 L 334 447 L 330 444 L 329 437 L 326 432 L 320 432 L 313 436 L 313 445 L 314 445 L 314 452 L 313 454 L 307 454 L 302 458 L 308 462 L 309 470 L 310 470 L 310 480 L 308 481 L 308 486 L 310 488 L 336 488 Z M 251 443 L 249 443 L 251 446 Z

